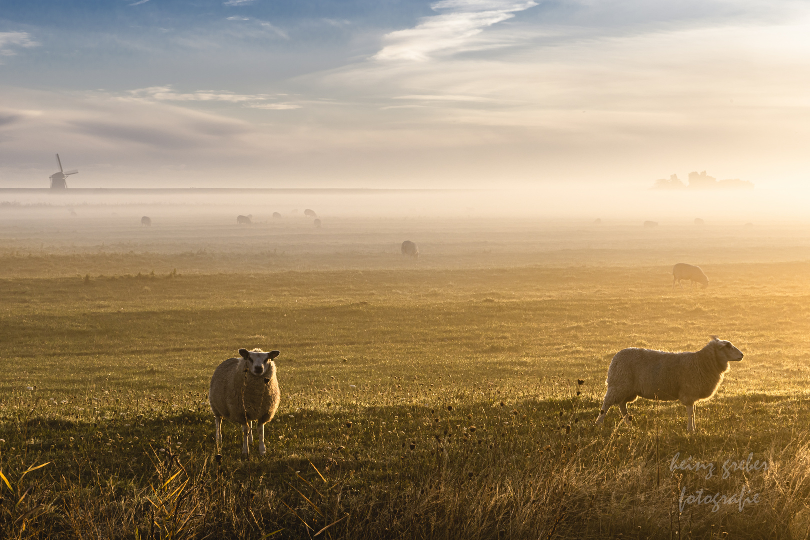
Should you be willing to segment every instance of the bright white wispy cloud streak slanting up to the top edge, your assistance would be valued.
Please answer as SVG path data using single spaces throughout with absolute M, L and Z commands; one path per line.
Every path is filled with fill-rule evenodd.
M 390 32 L 376 60 L 427 60 L 436 54 L 466 49 L 484 28 L 514 17 L 515 12 L 537 6 L 534 0 L 441 0 L 431 6 L 443 11 L 420 19 L 407 30 Z

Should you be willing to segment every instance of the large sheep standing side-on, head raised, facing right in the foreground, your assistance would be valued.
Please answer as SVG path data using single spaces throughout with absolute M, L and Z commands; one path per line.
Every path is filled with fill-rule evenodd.
M 695 431 L 694 404 L 717 391 L 729 362 L 739 362 L 743 353 L 717 336 L 700 351 L 663 352 L 622 349 L 613 356 L 602 410 L 596 423 L 603 423 L 611 406 L 619 404 L 625 423 L 630 423 L 627 404 L 641 396 L 662 401 L 678 400 L 686 406 L 686 431 Z

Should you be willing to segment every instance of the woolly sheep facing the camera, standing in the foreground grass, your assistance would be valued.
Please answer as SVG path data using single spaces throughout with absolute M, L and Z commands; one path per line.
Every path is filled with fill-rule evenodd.
M 226 418 L 242 426 L 242 453 L 253 444 L 253 423 L 258 423 L 258 453 L 265 453 L 264 424 L 279 409 L 281 392 L 272 361 L 280 351 L 240 349 L 241 358 L 229 358 L 214 370 L 208 401 L 214 413 L 216 447 L 220 448 L 220 425 Z

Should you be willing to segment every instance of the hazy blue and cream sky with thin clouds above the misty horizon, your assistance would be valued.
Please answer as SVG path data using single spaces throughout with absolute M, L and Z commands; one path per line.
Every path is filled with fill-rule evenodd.
M 0 187 L 807 179 L 810 4 L 0 0 Z

